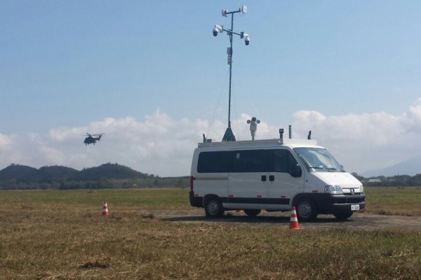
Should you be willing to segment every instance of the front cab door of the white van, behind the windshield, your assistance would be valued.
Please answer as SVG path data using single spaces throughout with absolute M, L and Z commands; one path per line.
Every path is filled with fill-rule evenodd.
M 272 150 L 273 166 L 269 172 L 268 209 L 289 210 L 293 197 L 304 191 L 305 174 L 301 176 L 293 173 L 298 165 L 293 154 L 287 149 Z M 294 176 L 295 177 L 294 177 Z

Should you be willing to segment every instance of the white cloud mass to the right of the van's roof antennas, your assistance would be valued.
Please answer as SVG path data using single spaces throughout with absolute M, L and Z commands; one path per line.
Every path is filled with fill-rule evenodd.
M 393 116 L 385 112 L 323 116 L 298 111 L 294 127 L 300 135 L 312 130 L 349 172 L 389 167 L 421 155 L 421 99 L 407 113 Z M 421 170 L 420 170 L 421 172 Z

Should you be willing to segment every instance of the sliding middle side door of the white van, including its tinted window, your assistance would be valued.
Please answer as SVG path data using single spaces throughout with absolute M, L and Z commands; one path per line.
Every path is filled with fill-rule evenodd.
M 233 150 L 228 175 L 229 207 L 264 209 L 269 150 Z

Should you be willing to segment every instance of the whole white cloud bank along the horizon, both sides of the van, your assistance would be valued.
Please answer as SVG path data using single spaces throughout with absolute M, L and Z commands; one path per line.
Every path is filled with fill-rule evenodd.
M 232 130 L 239 140 L 250 139 L 241 114 L 232 120 Z M 421 155 L 421 99 L 401 116 L 385 112 L 326 116 L 317 111 L 294 114 L 293 137 L 313 139 L 335 155 L 349 172 L 379 169 Z M 11 163 L 42 167 L 64 165 L 75 169 L 94 167 L 106 162 L 126 165 L 143 173 L 159 176 L 185 176 L 190 172 L 192 153 L 202 134 L 221 141 L 227 124 L 214 120 L 175 120 L 160 110 L 145 116 L 105 118 L 86 127 L 53 128 L 48 135 L 0 134 L 0 168 Z M 256 139 L 279 137 L 279 126 L 263 120 Z M 288 137 L 288 127 L 285 137 Z M 105 133 L 95 145 L 83 144 L 86 132 Z

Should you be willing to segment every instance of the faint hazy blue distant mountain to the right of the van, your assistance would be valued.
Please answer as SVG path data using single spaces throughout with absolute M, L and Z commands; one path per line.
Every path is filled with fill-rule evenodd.
M 421 156 L 406 160 L 405 162 L 399 162 L 396 165 L 391 167 L 386 167 L 383 169 L 371 170 L 368 172 L 363 172 L 359 174 L 366 178 L 377 177 L 377 176 L 395 176 L 395 175 L 409 175 L 415 176 L 416 174 L 421 174 Z

